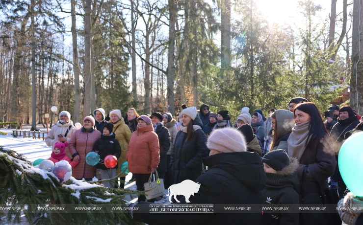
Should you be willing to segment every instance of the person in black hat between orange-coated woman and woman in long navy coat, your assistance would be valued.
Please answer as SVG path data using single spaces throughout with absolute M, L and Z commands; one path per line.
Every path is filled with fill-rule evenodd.
M 166 166 L 166 153 L 170 148 L 170 133 L 168 128 L 164 127 L 162 121 L 162 115 L 160 112 L 154 112 L 151 114 L 151 122 L 154 126 L 154 131 L 159 138 L 159 147 L 160 147 L 160 162 L 156 169 L 157 174 L 160 179 L 164 179 L 164 175 L 167 171 Z

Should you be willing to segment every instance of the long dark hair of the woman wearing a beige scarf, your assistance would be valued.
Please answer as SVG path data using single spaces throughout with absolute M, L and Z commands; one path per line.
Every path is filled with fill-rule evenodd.
M 320 112 L 314 103 L 299 103 L 294 109 L 294 118 L 296 110 L 308 113 L 311 116 L 308 140 L 310 136 L 311 138 L 318 137 L 319 139 L 323 138 L 325 135 L 329 136 L 329 133 L 324 125 L 323 118 L 321 118 Z

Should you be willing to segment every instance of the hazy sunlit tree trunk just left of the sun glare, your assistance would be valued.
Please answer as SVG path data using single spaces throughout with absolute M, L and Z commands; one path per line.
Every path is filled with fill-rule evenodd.
M 221 67 L 223 79 L 230 80 L 230 72 L 226 68 L 231 66 L 231 0 L 221 0 Z M 227 73 L 227 74 L 226 74 Z

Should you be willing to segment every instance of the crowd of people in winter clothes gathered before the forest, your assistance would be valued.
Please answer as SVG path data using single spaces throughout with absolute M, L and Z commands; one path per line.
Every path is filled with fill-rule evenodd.
M 169 112 L 139 115 L 130 108 L 125 116 L 120 110 L 112 110 L 106 116 L 104 109 L 97 109 L 93 116 L 84 117 L 79 130 L 74 127 L 70 113 L 63 111 L 46 143 L 53 148 L 52 157 L 64 152 L 74 162 L 73 177 L 78 180 L 89 181 L 95 176 L 102 180 L 114 178 L 122 172 L 120 165 L 127 161 L 133 175 L 131 180 L 136 181 L 139 191 L 144 191 L 144 183 L 156 172 L 164 179 L 166 189 L 184 180 L 199 182 L 198 193 L 189 198 L 191 203 L 260 204 L 266 203 L 267 198 L 273 204 L 299 204 L 304 196 L 317 196 L 319 202 L 327 189 L 334 188 L 339 199 L 344 199 L 347 193 L 350 199 L 358 198 L 349 194 L 337 166 L 342 143 L 352 133 L 363 130 L 361 117 L 351 107 L 329 107 L 328 112 L 333 116 L 327 116 L 325 122 L 316 105 L 301 97 L 291 99 L 287 110 L 270 109 L 267 118 L 261 110 L 251 114 L 244 107 L 232 122 L 228 111 L 213 113 L 207 104 L 202 104 L 200 110 L 185 105 L 182 109 L 177 119 Z M 63 150 L 59 151 L 59 147 Z M 111 169 L 102 162 L 88 165 L 85 157 L 91 151 L 99 153 L 102 160 L 114 155 L 118 165 Z M 121 180 L 125 177 L 126 174 Z M 116 187 L 110 182 L 103 184 L 124 188 L 124 182 Z M 146 200 L 140 195 L 138 204 L 159 199 Z M 185 203 L 183 196 L 177 199 Z M 363 224 L 359 213 L 339 214 L 347 224 Z M 191 220 L 183 214 L 130 212 L 135 221 L 149 225 L 240 224 L 241 221 L 251 225 L 341 224 L 337 215 L 326 217 L 316 213 L 314 217 L 314 214 L 282 210 L 197 214 Z

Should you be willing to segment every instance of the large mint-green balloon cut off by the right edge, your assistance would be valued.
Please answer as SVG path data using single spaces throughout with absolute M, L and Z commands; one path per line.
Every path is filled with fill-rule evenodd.
M 341 178 L 356 196 L 363 196 L 363 132 L 351 135 L 339 151 L 338 165 Z

